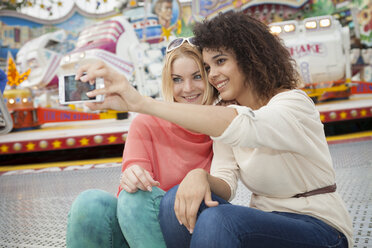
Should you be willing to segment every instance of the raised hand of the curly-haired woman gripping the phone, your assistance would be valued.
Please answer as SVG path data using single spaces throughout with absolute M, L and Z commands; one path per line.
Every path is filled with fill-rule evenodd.
M 84 75 L 85 73 L 85 75 Z M 103 78 L 105 87 L 88 92 L 89 97 L 105 95 L 103 102 L 89 102 L 91 110 L 113 109 L 137 112 L 141 108 L 144 97 L 128 82 L 123 74 L 106 65 L 102 61 L 81 66 L 76 73 L 76 80 L 93 84 L 96 78 Z

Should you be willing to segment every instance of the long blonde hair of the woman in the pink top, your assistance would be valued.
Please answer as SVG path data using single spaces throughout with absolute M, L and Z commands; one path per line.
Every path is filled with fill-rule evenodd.
M 205 72 L 203 65 L 203 57 L 201 52 L 187 42 L 184 42 L 180 47 L 170 51 L 166 57 L 162 73 L 162 94 L 163 98 L 167 102 L 174 102 L 173 97 L 173 80 L 172 80 L 172 65 L 173 62 L 180 57 L 188 57 L 195 61 L 197 64 L 202 80 L 205 83 L 205 90 L 203 94 L 202 104 L 210 105 L 213 103 L 216 95 L 214 87 L 208 83 L 207 73 Z

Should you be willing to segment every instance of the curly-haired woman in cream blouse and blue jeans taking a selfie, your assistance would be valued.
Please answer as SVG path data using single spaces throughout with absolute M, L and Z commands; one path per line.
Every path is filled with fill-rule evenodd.
M 219 14 L 194 27 L 211 83 L 237 105 L 196 106 L 144 98 L 104 64 L 80 68 L 103 76 L 105 102 L 164 118 L 213 139 L 210 174 L 195 169 L 163 197 L 160 225 L 168 247 L 352 247 L 352 225 L 336 192 L 320 115 L 297 84 L 279 38 L 243 13 Z M 249 207 L 232 205 L 240 179 Z

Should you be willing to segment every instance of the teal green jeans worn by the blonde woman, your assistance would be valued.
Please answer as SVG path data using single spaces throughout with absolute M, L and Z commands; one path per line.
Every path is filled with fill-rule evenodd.
M 158 220 L 164 194 L 157 187 L 122 190 L 118 198 L 97 189 L 82 192 L 68 214 L 67 247 L 166 247 Z

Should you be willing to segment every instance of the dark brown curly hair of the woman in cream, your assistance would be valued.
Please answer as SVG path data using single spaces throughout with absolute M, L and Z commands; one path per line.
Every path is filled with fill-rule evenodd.
M 194 26 L 200 49 L 232 51 L 245 75 L 245 85 L 270 99 L 279 90 L 294 89 L 299 81 L 295 61 L 268 26 L 243 12 L 220 13 Z

